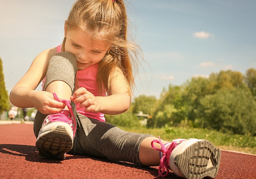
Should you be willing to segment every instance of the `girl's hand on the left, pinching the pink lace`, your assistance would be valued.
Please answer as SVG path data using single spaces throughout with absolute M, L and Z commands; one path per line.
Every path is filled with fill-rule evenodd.
M 65 108 L 63 102 L 58 102 L 54 99 L 52 93 L 45 91 L 35 91 L 33 98 L 34 106 L 42 114 L 54 114 L 62 111 Z

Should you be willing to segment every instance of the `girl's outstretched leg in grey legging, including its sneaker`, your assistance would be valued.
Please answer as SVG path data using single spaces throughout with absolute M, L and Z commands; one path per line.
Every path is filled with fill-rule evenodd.
M 69 154 L 109 158 L 141 166 L 160 164 L 161 176 L 168 175 L 169 169 L 184 178 L 215 178 L 218 173 L 221 151 L 207 140 L 176 139 L 169 143 L 152 135 L 125 132 L 111 124 L 77 115 L 75 144 Z M 152 147 L 152 141 L 161 151 Z

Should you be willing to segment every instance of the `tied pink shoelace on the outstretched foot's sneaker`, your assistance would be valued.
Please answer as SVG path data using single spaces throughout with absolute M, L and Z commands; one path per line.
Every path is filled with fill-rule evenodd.
M 181 140 L 181 141 L 172 141 L 172 143 L 170 143 L 170 145 L 168 145 L 168 146 L 167 146 L 167 149 L 166 149 L 166 147 L 164 146 L 164 144 L 161 142 L 160 136 L 159 136 L 158 138 L 159 138 L 159 141 L 158 141 L 158 140 L 152 141 L 152 142 L 151 142 L 151 146 L 152 146 L 152 148 L 154 148 L 154 149 L 156 149 L 156 150 L 158 150 L 158 151 L 160 151 L 160 152 L 163 153 L 163 157 L 160 159 L 160 165 L 159 165 L 159 167 L 158 167 L 158 173 L 159 173 L 159 175 L 158 175 L 157 177 L 159 177 L 159 176 L 165 177 L 165 176 L 169 175 L 169 166 L 170 166 L 169 161 L 170 161 L 170 155 L 171 155 L 173 149 L 174 149 L 177 145 L 179 145 L 179 143 L 181 143 L 181 142 L 184 141 L 184 140 Z M 155 143 L 159 143 L 159 144 L 161 145 L 161 149 L 156 148 L 156 147 L 154 146 L 154 142 L 155 142 Z M 165 172 L 165 171 L 166 171 L 166 174 L 164 175 L 164 172 Z

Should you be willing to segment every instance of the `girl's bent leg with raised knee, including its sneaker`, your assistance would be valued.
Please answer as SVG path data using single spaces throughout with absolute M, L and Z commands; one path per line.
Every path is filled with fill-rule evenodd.
M 36 147 L 39 155 L 43 157 L 63 160 L 66 152 L 72 149 L 76 130 L 76 110 L 73 102 L 71 107 L 69 98 L 74 90 L 76 72 L 76 59 L 71 53 L 57 53 L 50 59 L 44 90 L 56 93 L 56 100 L 63 99 L 62 102 L 69 110 L 64 109 L 47 117 L 38 112 L 34 132 L 37 137 Z

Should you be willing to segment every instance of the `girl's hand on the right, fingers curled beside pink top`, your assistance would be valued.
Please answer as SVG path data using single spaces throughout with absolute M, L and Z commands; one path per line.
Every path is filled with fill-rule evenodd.
M 85 107 L 87 112 L 99 112 L 101 109 L 99 100 L 84 87 L 77 89 L 70 99 L 75 104 L 80 103 L 80 107 Z

